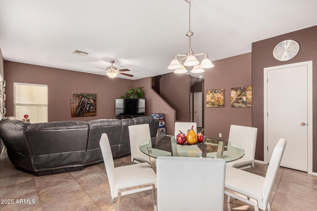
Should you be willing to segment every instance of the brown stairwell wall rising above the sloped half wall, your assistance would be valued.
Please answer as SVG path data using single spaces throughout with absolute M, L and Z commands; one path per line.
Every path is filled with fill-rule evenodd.
M 176 111 L 176 121 L 190 121 L 190 75 L 168 73 L 161 76 L 159 95 Z

